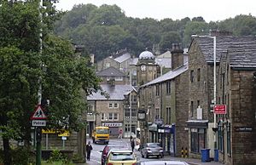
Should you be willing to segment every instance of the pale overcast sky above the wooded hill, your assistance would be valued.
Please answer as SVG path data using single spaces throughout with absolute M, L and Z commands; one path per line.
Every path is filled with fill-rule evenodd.
M 234 18 L 237 14 L 256 16 L 256 0 L 60 0 L 56 7 L 70 10 L 79 3 L 96 6 L 116 4 L 125 11 L 126 16 L 140 19 L 180 20 L 202 16 L 209 22 Z

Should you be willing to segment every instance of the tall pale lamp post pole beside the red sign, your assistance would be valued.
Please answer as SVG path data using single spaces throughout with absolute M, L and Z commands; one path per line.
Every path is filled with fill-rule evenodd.
M 213 37 L 213 104 L 216 105 L 216 36 Z M 213 111 L 214 115 L 214 128 L 216 128 L 216 114 Z M 213 137 L 214 141 L 214 149 L 217 148 L 217 140 L 216 140 L 216 133 L 214 133 Z

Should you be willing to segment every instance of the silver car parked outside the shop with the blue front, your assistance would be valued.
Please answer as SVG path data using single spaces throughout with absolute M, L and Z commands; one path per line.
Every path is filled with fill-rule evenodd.
M 157 156 L 157 158 L 159 158 L 164 156 L 164 151 L 160 143 L 146 143 L 142 146 L 140 151 L 142 157 L 148 158 L 148 156 Z

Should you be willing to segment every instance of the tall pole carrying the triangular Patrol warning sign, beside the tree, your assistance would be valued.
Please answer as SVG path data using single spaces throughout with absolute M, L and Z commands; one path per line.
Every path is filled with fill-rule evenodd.
M 38 6 L 38 11 L 39 11 L 39 17 L 40 17 L 40 21 L 41 21 L 41 25 L 43 24 L 43 15 L 40 12 L 40 8 L 43 6 L 43 0 L 40 0 L 39 6 Z M 39 33 L 39 44 L 40 44 L 40 50 L 39 50 L 39 54 L 40 56 L 42 55 L 42 50 L 43 50 L 43 41 L 42 41 L 42 37 L 43 37 L 43 33 L 42 33 L 42 27 L 40 28 L 40 33 Z M 40 67 L 42 67 L 42 63 L 40 65 Z M 38 105 L 41 105 L 42 103 L 42 77 L 38 78 L 38 84 L 39 84 L 39 88 L 38 88 Z M 41 137 L 42 137 L 42 128 L 37 128 L 37 156 L 36 156 L 36 165 L 41 165 L 41 156 L 42 156 L 42 147 L 41 147 Z

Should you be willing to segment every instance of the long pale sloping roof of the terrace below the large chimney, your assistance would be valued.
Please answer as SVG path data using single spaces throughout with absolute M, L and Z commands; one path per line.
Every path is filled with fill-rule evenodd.
M 161 77 L 157 77 L 154 80 L 152 80 L 151 82 L 148 82 L 144 85 L 142 85 L 141 87 L 146 87 L 149 85 L 153 85 L 155 83 L 161 83 L 161 82 L 165 82 L 166 80 L 171 80 L 172 78 L 177 77 L 178 75 L 182 74 L 184 71 L 187 71 L 189 69 L 188 67 L 188 63 L 185 63 L 183 66 L 172 70 L 172 71 L 168 71 L 166 72 L 166 74 L 162 75 Z

